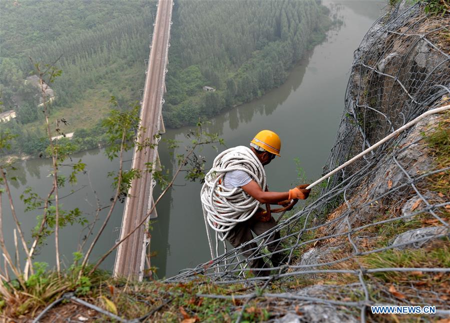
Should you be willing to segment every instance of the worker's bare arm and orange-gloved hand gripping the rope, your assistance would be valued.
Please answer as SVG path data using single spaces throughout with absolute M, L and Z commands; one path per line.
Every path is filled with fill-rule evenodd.
M 277 204 L 278 202 L 293 198 L 305 199 L 308 197 L 310 191 L 295 187 L 289 192 L 265 192 L 254 180 L 251 180 L 248 184 L 241 186 L 241 188 L 245 193 L 251 197 L 254 197 L 258 202 L 270 204 Z

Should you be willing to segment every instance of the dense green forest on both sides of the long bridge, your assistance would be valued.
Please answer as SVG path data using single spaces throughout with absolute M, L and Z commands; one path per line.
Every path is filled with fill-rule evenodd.
M 156 1 L 5 0 L 0 3 L 0 112 L 21 139 L 16 153 L 46 145 L 38 89 L 25 79 L 35 63 L 55 64 L 53 120 L 69 121 L 79 149 L 102 142 L 100 121 L 115 96 L 122 109 L 140 99 Z M 26 19 L 25 19 L 26 18 Z M 180 1 L 173 12 L 166 125 L 195 123 L 282 84 L 289 69 L 324 38 L 330 26 L 316 1 Z M 205 92 L 211 86 L 215 92 Z M 25 140 L 24 140 L 25 139 Z

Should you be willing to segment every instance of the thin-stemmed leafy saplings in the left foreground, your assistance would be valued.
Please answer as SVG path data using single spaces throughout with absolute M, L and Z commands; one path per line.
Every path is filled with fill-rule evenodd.
M 205 163 L 206 160 L 198 154 L 199 149 L 204 145 L 214 145 L 223 144 L 223 140 L 220 139 L 217 134 L 209 134 L 203 131 L 202 124 L 198 123 L 197 128 L 190 131 L 187 136 L 191 139 L 191 144 L 186 147 L 186 152 L 184 154 L 178 154 L 175 156 L 177 160 L 177 169 L 174 172 L 172 178 L 169 178 L 168 173 L 163 170 L 156 170 L 156 165 L 152 163 L 146 164 L 145 169 L 124 169 L 124 153 L 130 149 L 156 149 L 157 140 L 160 135 L 156 134 L 153 138 L 145 137 L 146 129 L 140 125 L 139 119 L 139 109 L 140 107 L 135 105 L 131 109 L 123 109 L 117 100 L 113 97 L 111 103 L 114 108 L 109 117 L 102 122 L 102 126 L 105 132 L 106 141 L 108 146 L 105 150 L 108 158 L 113 160 L 115 158 L 119 159 L 119 169 L 117 172 L 112 172 L 107 174 L 113 179 L 114 195 L 110 200 L 110 203 L 106 206 L 101 206 L 97 198 L 97 208 L 95 210 L 94 219 L 89 222 L 82 214 L 79 208 L 72 210 L 64 210 L 60 204 L 59 188 L 64 187 L 66 184 L 75 184 L 77 182 L 77 176 L 80 172 L 86 170 L 86 164 L 82 160 L 74 162 L 70 156 L 77 149 L 76 145 L 68 140 L 54 141 L 52 137 L 55 134 L 63 134 L 61 130 L 61 125 L 67 123 L 67 120 L 61 119 L 56 122 L 56 129 L 52 129 L 51 123 L 49 121 L 49 110 L 46 100 L 46 84 L 51 84 L 54 82 L 55 78 L 61 75 L 62 71 L 56 69 L 54 66 L 46 65 L 42 67 L 39 64 L 34 65 L 36 68 L 37 75 L 40 79 L 41 86 L 41 96 L 42 102 L 42 113 L 44 115 L 46 134 L 48 138 L 48 147 L 45 151 L 46 156 L 52 159 L 52 187 L 48 194 L 44 197 L 39 196 L 33 191 L 31 187 L 28 187 L 24 193 L 21 195 L 21 200 L 26 206 L 26 211 L 31 210 L 41 210 L 42 214 L 37 217 L 38 223 L 33 229 L 32 237 L 33 240 L 29 243 L 25 238 L 25 234 L 22 230 L 21 223 L 16 214 L 14 201 L 9 188 L 9 181 L 15 180 L 14 177 L 8 176 L 9 170 L 14 170 L 14 164 L 7 161 L 0 160 L 0 247 L 6 259 L 7 266 L 4 269 L 0 266 L 0 279 L 2 279 L 3 284 L 0 285 L 0 293 L 3 298 L 7 301 L 10 297 L 16 297 L 17 299 L 29 297 L 31 292 L 30 288 L 39 285 L 40 290 L 46 290 L 43 288 L 45 283 L 40 280 L 42 278 L 46 265 L 42 263 L 33 263 L 34 255 L 40 246 L 43 245 L 45 239 L 52 234 L 55 236 L 55 253 L 56 253 L 56 274 L 58 281 L 64 281 L 62 278 L 76 277 L 74 281 L 70 284 L 63 284 L 60 288 L 53 288 L 45 292 L 46 299 L 41 301 L 50 301 L 54 297 L 58 297 L 63 292 L 69 289 L 81 288 L 87 282 L 90 281 L 90 277 L 96 272 L 99 265 L 106 259 L 106 257 L 113 252 L 123 241 L 129 238 L 129 236 L 136 231 L 140 225 L 142 225 L 145 220 L 153 212 L 154 208 L 161 200 L 161 198 L 166 194 L 166 192 L 172 187 L 175 178 L 180 172 L 185 173 L 185 178 L 190 181 L 203 180 L 205 175 Z M 9 131 L 0 132 L 0 153 L 7 151 L 11 148 L 11 140 L 14 136 Z M 159 140 L 158 140 L 159 141 Z M 168 145 L 170 148 L 176 148 L 179 142 L 168 140 Z M 69 176 L 63 176 L 60 174 L 60 169 L 62 167 L 69 167 L 71 172 Z M 160 196 L 155 200 L 155 203 L 151 210 L 145 215 L 142 223 L 135 227 L 127 236 L 115 243 L 100 259 L 97 259 L 94 265 L 88 265 L 92 254 L 92 250 L 95 247 L 97 241 L 104 233 L 104 229 L 110 220 L 114 208 L 117 206 L 117 202 L 123 202 L 127 197 L 129 188 L 131 187 L 133 180 L 139 179 L 144 172 L 152 174 L 152 177 L 161 185 L 163 188 Z M 9 206 L 12 211 L 12 216 L 16 223 L 16 229 L 19 234 L 21 241 L 21 248 L 26 254 L 26 263 L 24 269 L 21 268 L 21 261 L 19 257 L 16 257 L 16 263 L 13 261 L 13 257 L 9 250 L 7 250 L 2 227 L 2 194 L 6 194 L 9 200 Z M 95 194 L 95 192 L 94 192 Z M 99 219 L 100 212 L 107 210 L 107 215 L 97 232 L 94 232 L 94 226 Z M 86 242 L 83 241 L 77 250 L 74 250 L 75 263 L 69 268 L 69 272 L 62 270 L 60 261 L 60 250 L 59 250 L 59 231 L 61 227 L 71 225 L 71 224 L 81 224 L 86 225 L 88 229 L 88 236 L 94 235 L 92 242 L 87 246 L 85 250 Z M 16 245 L 15 254 L 19 255 L 19 244 Z M 83 256 L 84 254 L 84 256 Z M 81 264 L 78 265 L 78 261 Z M 89 271 L 86 270 L 89 267 Z M 9 270 L 11 270 L 16 277 L 19 285 L 8 283 L 10 281 Z M 87 274 L 86 274 L 87 273 Z M 41 278 L 40 278 L 41 277 Z M 72 278 L 71 278 L 72 279 Z M 39 281 L 39 283 L 36 283 Z M 49 280 L 45 280 L 49 283 Z M 36 296 L 35 298 L 39 298 Z M 38 306 L 40 304 L 36 300 L 30 302 Z

